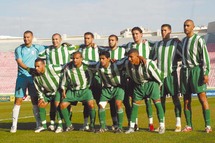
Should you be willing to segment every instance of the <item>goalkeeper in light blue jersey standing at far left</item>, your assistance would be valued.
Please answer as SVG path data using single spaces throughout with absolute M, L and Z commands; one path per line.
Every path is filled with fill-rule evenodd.
M 15 50 L 15 58 L 18 64 L 18 76 L 16 80 L 15 88 L 15 103 L 13 107 L 13 123 L 10 132 L 15 133 L 17 130 L 17 122 L 19 117 L 19 111 L 22 104 L 22 98 L 26 94 L 26 89 L 31 96 L 31 102 L 33 104 L 33 113 L 36 119 L 36 128 L 41 125 L 39 118 L 39 110 L 37 106 L 36 89 L 33 83 L 33 78 L 29 74 L 34 68 L 34 61 L 37 59 L 39 52 L 45 49 L 44 46 L 32 44 L 33 33 L 31 31 L 25 31 L 23 35 L 24 44 L 17 47 Z

